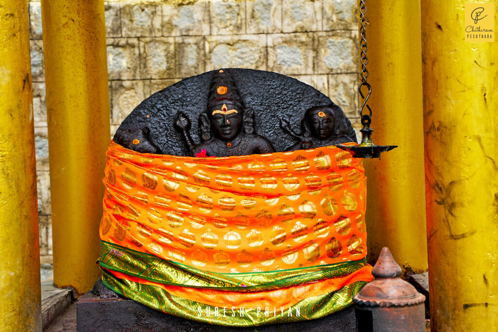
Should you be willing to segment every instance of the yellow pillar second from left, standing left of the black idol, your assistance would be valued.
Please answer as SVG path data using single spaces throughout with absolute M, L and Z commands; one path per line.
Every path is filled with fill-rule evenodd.
M 42 0 L 54 283 L 99 278 L 99 222 L 110 141 L 104 0 Z

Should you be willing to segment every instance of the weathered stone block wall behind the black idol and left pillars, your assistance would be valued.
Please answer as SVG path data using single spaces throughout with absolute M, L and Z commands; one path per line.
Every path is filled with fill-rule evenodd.
M 111 128 L 140 101 L 220 67 L 274 71 L 312 85 L 355 128 L 356 0 L 109 0 L 105 2 Z M 39 1 L 29 2 L 40 255 L 51 262 L 50 182 Z

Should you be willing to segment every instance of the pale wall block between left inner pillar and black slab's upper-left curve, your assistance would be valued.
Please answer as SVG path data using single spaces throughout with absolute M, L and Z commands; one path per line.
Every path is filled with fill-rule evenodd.
M 111 123 L 119 125 L 145 99 L 143 81 L 113 81 L 111 91 Z

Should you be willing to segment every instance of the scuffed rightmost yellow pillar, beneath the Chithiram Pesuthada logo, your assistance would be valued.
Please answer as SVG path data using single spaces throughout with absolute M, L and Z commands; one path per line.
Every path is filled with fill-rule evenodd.
M 498 331 L 498 45 L 464 40 L 467 2 L 422 0 L 433 331 Z

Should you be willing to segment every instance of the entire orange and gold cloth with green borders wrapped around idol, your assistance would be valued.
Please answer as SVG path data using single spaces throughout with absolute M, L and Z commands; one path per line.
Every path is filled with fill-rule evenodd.
M 107 156 L 98 264 L 118 294 L 191 320 L 258 326 L 347 308 L 373 279 L 366 178 L 349 152 L 194 158 L 111 142 Z

